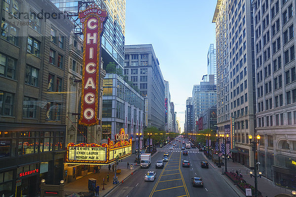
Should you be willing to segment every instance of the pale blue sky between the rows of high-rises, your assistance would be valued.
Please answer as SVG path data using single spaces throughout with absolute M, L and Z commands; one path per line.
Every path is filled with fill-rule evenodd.
M 186 99 L 207 74 L 207 53 L 216 46 L 212 23 L 217 0 L 126 0 L 125 44 L 152 44 L 169 81 L 181 131 Z

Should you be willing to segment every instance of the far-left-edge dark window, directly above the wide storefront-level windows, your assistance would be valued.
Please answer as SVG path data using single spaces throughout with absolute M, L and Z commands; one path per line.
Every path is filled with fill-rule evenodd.
M 0 91 L 0 115 L 12 116 L 13 115 L 13 97 L 11 93 Z

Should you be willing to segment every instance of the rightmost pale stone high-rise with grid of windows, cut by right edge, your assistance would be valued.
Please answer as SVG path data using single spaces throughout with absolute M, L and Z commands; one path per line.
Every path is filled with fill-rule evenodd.
M 259 170 L 296 188 L 295 1 L 253 0 L 253 5 Z

